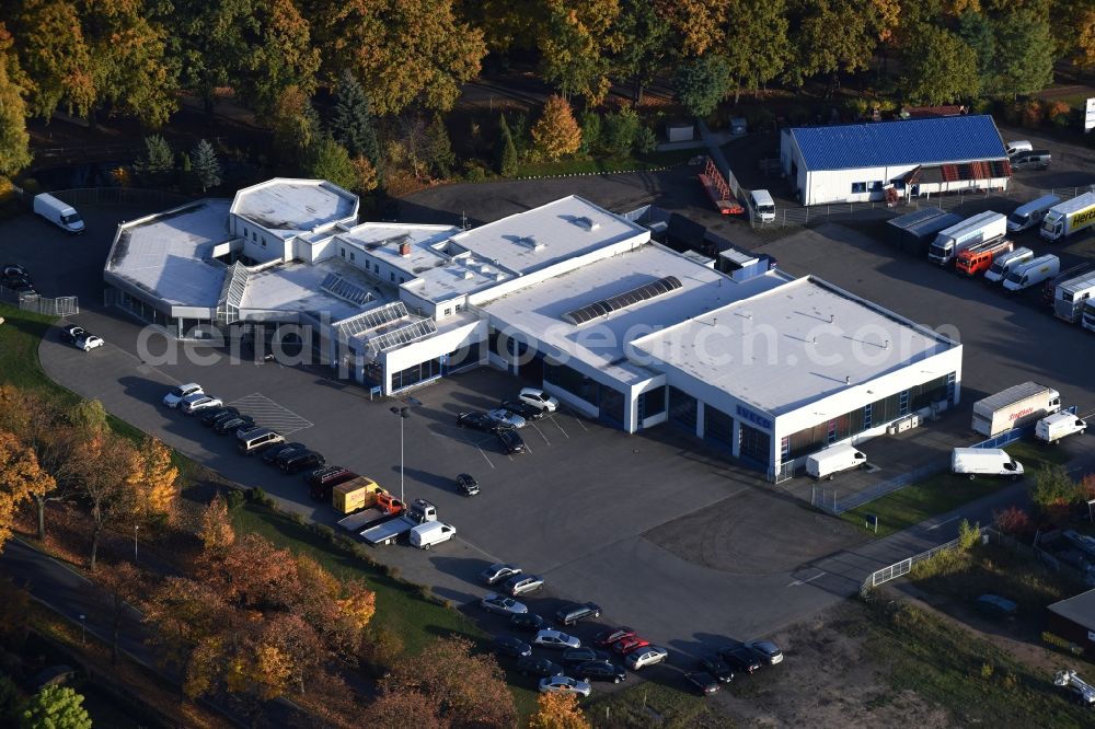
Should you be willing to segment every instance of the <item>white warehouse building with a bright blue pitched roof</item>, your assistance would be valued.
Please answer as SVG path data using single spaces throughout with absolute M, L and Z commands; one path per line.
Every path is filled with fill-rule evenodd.
M 803 205 L 1006 189 L 1012 175 L 987 115 L 792 127 L 780 163 Z

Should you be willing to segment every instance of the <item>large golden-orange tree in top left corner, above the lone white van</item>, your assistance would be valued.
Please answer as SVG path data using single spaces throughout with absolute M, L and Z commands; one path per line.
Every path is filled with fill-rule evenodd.
M 80 13 L 68 0 L 24 0 L 12 27 L 26 72 L 31 113 L 48 119 L 64 107 L 87 116 L 95 104 L 91 51 Z

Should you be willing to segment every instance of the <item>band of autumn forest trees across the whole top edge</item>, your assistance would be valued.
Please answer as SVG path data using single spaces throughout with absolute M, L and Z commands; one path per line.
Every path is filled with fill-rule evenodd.
M 13 0 L 0 11 L 0 174 L 30 162 L 27 118 L 120 115 L 155 130 L 182 93 L 207 108 L 231 93 L 292 162 L 368 181 L 391 154 L 337 139 L 345 117 L 320 124 L 316 94 L 357 83 L 356 114 L 408 116 L 401 139 L 443 147 L 430 127 L 488 56 L 531 59 L 585 111 L 613 83 L 638 103 L 668 79 L 704 115 L 773 83 L 832 90 L 873 63 L 879 88 L 911 103 L 1014 97 L 1049 83 L 1058 60 L 1095 67 L 1093 27 L 1086 0 Z M 452 164 L 443 149 L 410 154 L 435 173 Z

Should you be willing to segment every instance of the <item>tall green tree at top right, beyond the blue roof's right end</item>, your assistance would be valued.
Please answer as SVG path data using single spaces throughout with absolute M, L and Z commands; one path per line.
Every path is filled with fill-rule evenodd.
M 993 22 L 996 55 L 992 93 L 1014 99 L 1053 81 L 1053 38 L 1048 7 L 1021 5 Z

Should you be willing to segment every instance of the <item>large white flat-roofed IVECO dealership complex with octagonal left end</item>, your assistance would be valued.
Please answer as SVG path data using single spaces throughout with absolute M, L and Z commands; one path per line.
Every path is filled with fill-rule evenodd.
M 959 344 L 769 261 L 716 268 L 577 196 L 472 230 L 356 223 L 356 206 L 275 180 L 124 223 L 112 302 L 181 338 L 297 337 L 374 394 L 489 364 L 772 478 L 960 396 Z

